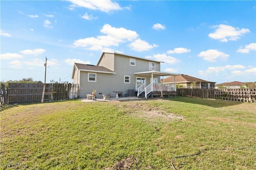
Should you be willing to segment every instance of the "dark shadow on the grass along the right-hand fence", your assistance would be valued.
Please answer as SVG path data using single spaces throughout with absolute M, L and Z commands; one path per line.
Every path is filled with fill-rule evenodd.
M 222 101 L 222 100 L 216 100 L 216 99 L 201 99 L 201 98 L 191 98 L 191 97 L 182 97 L 182 96 L 173 97 L 173 98 L 164 98 L 163 100 L 174 100 L 174 101 L 180 101 L 185 103 L 206 105 L 206 106 L 215 107 L 215 108 L 235 106 L 235 105 L 242 104 L 242 102 Z

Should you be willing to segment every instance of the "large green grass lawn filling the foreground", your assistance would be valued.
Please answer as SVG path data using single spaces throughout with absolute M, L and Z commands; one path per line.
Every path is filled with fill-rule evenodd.
M 175 158 L 175 168 L 256 169 L 256 105 L 250 103 L 70 100 L 15 105 L 0 120 L 2 169 L 170 170 L 174 156 L 204 149 Z

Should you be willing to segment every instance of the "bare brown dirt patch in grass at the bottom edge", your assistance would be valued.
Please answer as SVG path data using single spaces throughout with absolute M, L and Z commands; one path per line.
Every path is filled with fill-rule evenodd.
M 137 163 L 136 158 L 126 158 L 122 159 L 111 168 L 105 168 L 104 170 L 129 170 L 133 164 Z

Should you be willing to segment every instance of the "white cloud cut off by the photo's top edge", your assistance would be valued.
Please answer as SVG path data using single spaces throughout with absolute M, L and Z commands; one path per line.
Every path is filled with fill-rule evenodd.
M 75 7 L 84 7 L 91 10 L 100 10 L 103 12 L 110 12 L 113 10 L 121 10 L 122 8 L 116 2 L 111 0 L 67 0 L 72 2 L 70 10 L 74 10 Z

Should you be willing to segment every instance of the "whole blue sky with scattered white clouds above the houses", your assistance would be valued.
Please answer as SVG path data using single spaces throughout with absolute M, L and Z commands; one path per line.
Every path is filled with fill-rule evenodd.
M 102 51 L 164 61 L 161 71 L 256 81 L 256 1 L 0 1 L 1 81 L 72 82 Z

